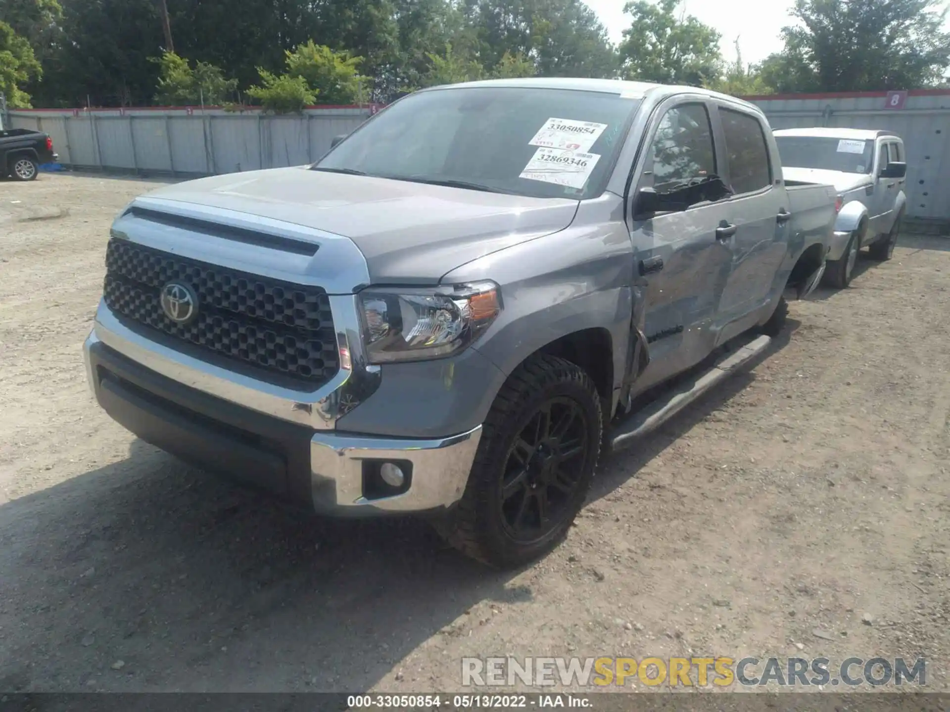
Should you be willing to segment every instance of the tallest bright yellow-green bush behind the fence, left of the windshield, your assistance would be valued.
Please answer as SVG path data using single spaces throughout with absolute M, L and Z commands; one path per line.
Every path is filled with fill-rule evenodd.
M 319 103 L 365 103 L 371 79 L 359 73 L 362 63 L 362 57 L 334 52 L 326 45 L 315 45 L 313 40 L 287 52 L 287 73 L 306 81 Z

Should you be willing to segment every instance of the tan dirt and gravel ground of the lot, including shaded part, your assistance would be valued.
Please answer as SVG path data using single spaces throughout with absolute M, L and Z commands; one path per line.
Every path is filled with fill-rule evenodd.
M 445 691 L 466 655 L 691 653 L 923 655 L 947 688 L 950 241 L 792 305 L 763 363 L 603 462 L 558 551 L 498 573 L 419 521 L 288 512 L 93 404 L 108 225 L 154 185 L 0 183 L 0 690 Z

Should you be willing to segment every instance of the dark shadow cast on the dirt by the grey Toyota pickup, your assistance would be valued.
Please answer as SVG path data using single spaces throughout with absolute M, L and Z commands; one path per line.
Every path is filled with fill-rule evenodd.
M 753 380 L 737 373 L 606 458 L 588 502 Z M 0 571 L 9 692 L 361 691 L 397 674 L 407 689 L 451 688 L 396 665 L 466 635 L 473 607 L 533 596 L 518 571 L 466 559 L 421 519 L 314 518 L 141 440 L 0 506 Z

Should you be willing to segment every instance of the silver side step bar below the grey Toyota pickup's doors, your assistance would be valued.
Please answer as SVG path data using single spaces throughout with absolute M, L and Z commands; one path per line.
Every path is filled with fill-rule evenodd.
M 673 418 L 676 413 L 710 390 L 713 385 L 725 381 L 740 367 L 747 365 L 752 359 L 765 351 L 770 343 L 771 338 L 769 336 L 759 336 L 744 347 L 724 355 L 692 384 L 683 384 L 681 388 L 673 391 L 669 396 L 664 396 L 650 403 L 631 416 L 628 421 L 622 422 L 618 430 L 614 432 L 611 446 L 614 450 L 621 450 L 632 445 L 637 438 L 656 430 L 657 427 Z

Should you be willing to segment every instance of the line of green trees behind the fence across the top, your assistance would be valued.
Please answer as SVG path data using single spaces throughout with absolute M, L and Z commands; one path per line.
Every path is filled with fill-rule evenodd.
M 289 72 L 320 102 L 387 102 L 406 88 L 535 73 L 745 94 L 760 83 L 783 92 L 909 89 L 939 83 L 950 65 L 941 0 L 796 0 L 784 48 L 757 70 L 724 64 L 718 34 L 681 16 L 678 0 L 629 0 L 617 48 L 583 0 L 165 1 L 193 79 L 170 67 L 182 72 L 171 86 L 160 86 L 161 63 L 149 61 L 164 46 L 157 0 L 0 0 L 0 17 L 43 68 L 42 81 L 31 70 L 20 91 L 37 105 L 130 105 L 230 78 L 267 92 Z M 299 99 L 298 82 L 279 86 Z

